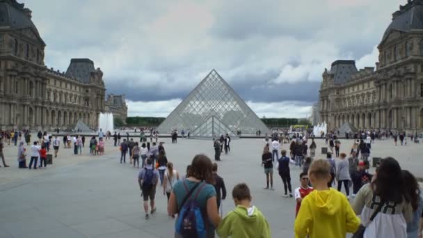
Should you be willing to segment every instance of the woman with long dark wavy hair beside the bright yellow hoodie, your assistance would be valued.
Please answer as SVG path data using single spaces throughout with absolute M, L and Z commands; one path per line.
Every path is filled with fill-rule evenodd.
M 353 203 L 366 225 L 364 237 L 406 238 L 406 223 L 413 218 L 407 203 L 401 166 L 392 157 L 385 158 L 376 170 L 376 178 L 358 191 Z

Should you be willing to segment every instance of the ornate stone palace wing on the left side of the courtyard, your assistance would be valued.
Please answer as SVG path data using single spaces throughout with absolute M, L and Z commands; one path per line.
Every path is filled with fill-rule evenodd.
M 66 73 L 47 69 L 45 42 L 31 10 L 0 0 L 1 129 L 97 127 L 104 111 L 103 73 L 89 59 L 72 59 Z

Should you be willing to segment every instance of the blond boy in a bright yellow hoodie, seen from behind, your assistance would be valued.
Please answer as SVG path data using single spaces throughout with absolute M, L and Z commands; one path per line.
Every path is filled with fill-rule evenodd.
M 294 223 L 296 237 L 346 237 L 360 225 L 344 194 L 328 187 L 330 167 L 326 159 L 314 160 L 310 166 L 308 175 L 314 191 L 301 201 Z

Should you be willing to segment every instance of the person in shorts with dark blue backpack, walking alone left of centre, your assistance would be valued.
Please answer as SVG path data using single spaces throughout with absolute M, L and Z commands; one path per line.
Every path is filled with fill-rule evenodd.
M 156 196 L 156 187 L 159 182 L 159 173 L 154 169 L 151 159 L 147 159 L 145 168 L 141 169 L 138 173 L 138 184 L 141 189 L 141 197 L 144 201 L 145 219 L 150 219 L 148 214 L 148 200 L 150 199 L 150 213 L 156 212 L 154 198 Z

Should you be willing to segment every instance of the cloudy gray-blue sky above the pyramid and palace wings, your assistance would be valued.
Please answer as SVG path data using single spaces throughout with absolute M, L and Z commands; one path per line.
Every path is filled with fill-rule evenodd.
M 321 74 L 337 59 L 374 66 L 392 13 L 406 0 L 26 0 L 65 71 L 90 58 L 129 116 L 168 116 L 216 69 L 258 116 L 310 116 Z

